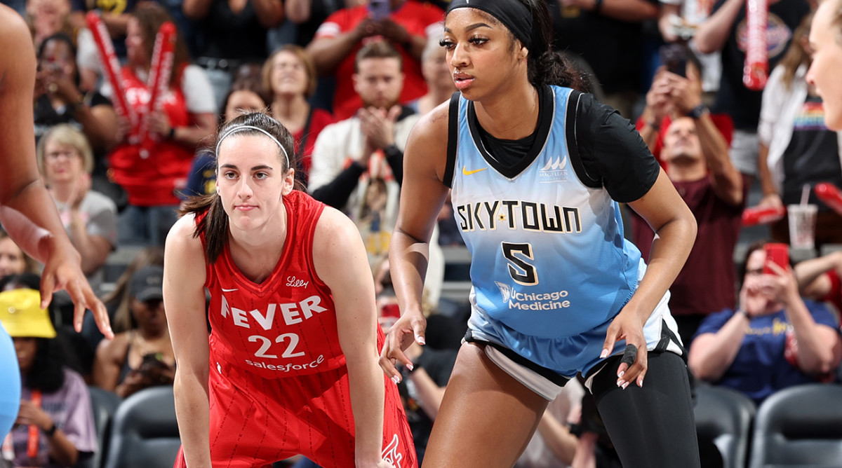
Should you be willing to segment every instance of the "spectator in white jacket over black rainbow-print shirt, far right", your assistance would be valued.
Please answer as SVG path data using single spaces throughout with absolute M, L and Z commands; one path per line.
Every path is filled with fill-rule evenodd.
M 804 17 L 763 90 L 758 127 L 757 170 L 763 188 L 759 207 L 797 204 L 805 185 L 831 182 L 842 187 L 842 138 L 825 126 L 822 98 L 807 83 L 813 53 L 807 40 L 812 18 L 812 14 Z M 809 202 L 818 205 L 816 245 L 842 243 L 842 216 L 812 191 Z M 773 223 L 770 234 L 772 239 L 788 243 L 787 218 Z

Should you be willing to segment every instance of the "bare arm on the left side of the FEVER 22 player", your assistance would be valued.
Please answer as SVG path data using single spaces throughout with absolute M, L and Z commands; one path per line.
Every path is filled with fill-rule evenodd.
M 210 468 L 205 252 L 193 237 L 194 219 L 179 219 L 167 236 L 163 304 L 175 354 L 173 392 L 184 460 L 190 468 Z

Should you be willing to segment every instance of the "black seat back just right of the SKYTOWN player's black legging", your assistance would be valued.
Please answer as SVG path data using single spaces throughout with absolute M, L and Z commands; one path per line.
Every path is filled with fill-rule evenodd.
M 721 386 L 696 387 L 695 428 L 701 442 L 716 445 L 724 468 L 743 468 L 751 439 L 754 402 Z M 712 450 L 712 449 L 711 449 Z

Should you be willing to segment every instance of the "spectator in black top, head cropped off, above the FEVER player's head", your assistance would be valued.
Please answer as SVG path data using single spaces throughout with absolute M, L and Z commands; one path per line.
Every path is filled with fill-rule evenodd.
M 196 63 L 213 85 L 217 108 L 232 83 L 232 72 L 269 55 L 267 34 L 284 20 L 281 0 L 184 0 L 182 9 L 200 34 Z M 220 108 L 221 110 L 221 108 Z

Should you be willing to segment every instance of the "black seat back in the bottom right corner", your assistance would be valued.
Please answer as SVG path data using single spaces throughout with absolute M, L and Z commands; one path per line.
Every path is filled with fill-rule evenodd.
M 791 386 L 760 404 L 749 467 L 773 466 L 842 466 L 842 386 Z

